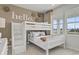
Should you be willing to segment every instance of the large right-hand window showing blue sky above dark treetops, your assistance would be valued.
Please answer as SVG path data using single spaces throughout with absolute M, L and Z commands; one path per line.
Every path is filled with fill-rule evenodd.
M 67 19 L 67 30 L 69 32 L 79 32 L 79 17 Z

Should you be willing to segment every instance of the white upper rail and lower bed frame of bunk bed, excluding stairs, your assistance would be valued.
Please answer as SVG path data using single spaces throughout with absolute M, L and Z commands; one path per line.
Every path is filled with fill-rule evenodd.
M 28 31 L 28 30 L 50 30 L 50 32 L 51 32 L 51 30 L 52 30 L 51 24 L 37 23 L 37 22 L 27 22 L 27 21 L 25 21 L 24 24 L 25 24 L 26 31 Z M 47 47 L 43 47 L 42 45 L 36 43 L 33 40 L 29 40 L 29 41 L 31 43 L 39 46 L 40 48 L 44 49 L 46 51 L 46 54 L 48 55 L 49 54 L 49 49 L 54 48 L 56 46 L 59 46 L 59 45 L 63 44 L 65 40 L 55 41 L 51 45 L 48 43 L 46 45 Z

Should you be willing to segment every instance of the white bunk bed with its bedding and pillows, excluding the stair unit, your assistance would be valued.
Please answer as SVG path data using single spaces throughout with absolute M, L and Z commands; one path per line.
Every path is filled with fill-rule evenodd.
M 47 23 L 37 23 L 37 22 L 24 22 L 25 24 L 25 29 L 26 31 L 29 30 L 49 30 L 51 32 L 51 24 Z M 54 48 L 56 46 L 59 46 L 61 44 L 64 44 L 64 35 L 57 35 L 57 36 L 52 36 L 52 35 L 45 35 L 42 32 L 41 36 L 34 37 L 35 34 L 34 32 L 31 32 L 29 42 L 37 45 L 38 47 L 44 49 L 46 51 L 46 54 L 49 54 L 49 49 Z M 37 33 L 36 33 L 37 34 Z M 38 34 L 40 35 L 40 34 Z

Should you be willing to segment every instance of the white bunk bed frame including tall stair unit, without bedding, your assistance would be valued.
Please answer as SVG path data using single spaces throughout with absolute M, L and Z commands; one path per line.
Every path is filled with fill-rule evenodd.
M 29 31 L 29 30 L 49 30 L 51 32 L 51 29 L 52 29 L 51 25 L 47 24 L 47 23 L 37 23 L 37 22 L 24 21 L 24 22 L 22 22 L 22 24 L 21 23 L 17 23 L 17 24 L 12 23 L 12 24 L 13 24 L 12 25 L 12 54 L 22 54 L 22 53 L 24 54 L 24 52 L 26 50 L 26 37 L 27 37 L 26 33 L 27 33 L 27 31 Z M 22 29 L 23 31 L 21 30 L 21 28 L 23 28 Z M 22 34 L 20 34 L 20 32 Z M 20 38 L 19 39 L 20 42 L 16 41 L 16 39 L 14 39 L 14 37 L 18 39 L 17 36 L 18 37 L 21 36 L 23 40 Z M 59 37 L 52 38 L 52 39 L 53 39 L 52 43 L 50 43 L 50 42 L 48 43 L 48 41 L 47 41 L 47 44 L 45 45 L 46 47 L 44 47 L 42 44 L 39 44 L 38 42 L 35 42 L 33 40 L 28 40 L 28 41 L 30 41 L 31 43 L 33 43 L 33 44 L 37 45 L 38 47 L 44 49 L 46 51 L 46 54 L 48 55 L 49 49 L 54 48 L 56 46 L 59 46 L 59 45 L 63 44 L 64 41 L 65 41 L 65 40 L 62 40 L 61 38 L 59 39 Z M 59 39 L 59 40 L 54 40 L 54 39 Z M 22 48 L 21 46 L 24 47 L 24 48 Z

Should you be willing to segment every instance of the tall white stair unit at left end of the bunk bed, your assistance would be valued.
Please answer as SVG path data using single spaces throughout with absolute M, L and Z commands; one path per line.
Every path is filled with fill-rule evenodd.
M 12 54 L 26 54 L 26 30 L 23 23 L 12 23 Z

